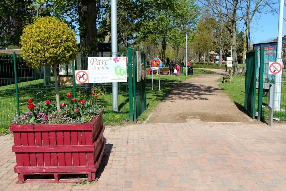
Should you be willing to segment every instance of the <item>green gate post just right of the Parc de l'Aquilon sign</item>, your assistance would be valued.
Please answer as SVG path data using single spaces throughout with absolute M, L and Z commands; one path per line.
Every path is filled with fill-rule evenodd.
M 133 122 L 132 49 L 128 48 L 129 121 Z

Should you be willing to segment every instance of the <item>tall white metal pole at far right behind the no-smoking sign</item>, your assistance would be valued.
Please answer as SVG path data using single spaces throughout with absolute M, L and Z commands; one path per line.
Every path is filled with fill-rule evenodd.
M 283 8 L 284 8 L 284 0 L 280 0 L 276 62 L 282 62 Z M 274 86 L 275 87 L 274 88 L 274 110 L 275 111 L 280 111 L 281 86 L 282 86 L 282 75 L 275 75 L 275 86 Z

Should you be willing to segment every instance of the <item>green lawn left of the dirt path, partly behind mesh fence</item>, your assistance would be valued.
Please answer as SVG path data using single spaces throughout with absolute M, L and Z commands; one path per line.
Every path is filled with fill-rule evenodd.
M 194 75 L 185 76 L 180 74 L 180 76 L 169 76 L 161 75 L 161 82 L 182 82 L 188 78 L 194 77 L 197 74 L 210 74 L 215 73 L 210 70 L 197 69 L 194 68 Z M 154 91 L 152 91 L 151 85 L 152 75 L 147 75 L 147 111 L 140 116 L 139 121 L 144 121 L 151 111 L 166 97 L 168 92 L 174 87 L 175 84 L 161 84 L 161 91 L 158 91 L 158 76 L 154 75 Z M 51 78 L 52 84 L 54 83 L 53 78 Z M 43 79 L 32 80 L 28 82 L 18 83 L 19 89 L 19 105 L 20 111 L 27 112 L 27 99 L 31 98 L 33 101 L 45 101 L 46 99 L 55 101 L 55 90 L 53 86 L 44 86 Z M 118 105 L 119 113 L 112 111 L 112 85 L 101 84 L 104 87 L 104 95 L 98 97 L 98 103 L 105 106 L 105 113 L 103 115 L 103 120 L 106 125 L 120 125 L 129 121 L 129 93 L 128 93 L 128 83 L 120 83 L 118 86 Z M 76 97 L 85 97 L 81 91 L 91 92 L 92 88 L 90 86 L 80 86 L 76 85 Z M 39 93 L 40 92 L 40 93 Z M 41 93 L 43 92 L 43 93 Z M 59 95 L 61 102 L 69 103 L 69 99 L 66 97 L 67 92 L 73 92 L 72 86 L 59 86 Z M 11 120 L 14 119 L 17 113 L 17 103 L 15 97 L 15 84 L 0 87 L 0 128 L 7 129 Z M 116 118 L 115 118 L 116 116 Z M 114 117 L 114 119 L 112 119 Z M 117 118 L 119 117 L 119 118 Z

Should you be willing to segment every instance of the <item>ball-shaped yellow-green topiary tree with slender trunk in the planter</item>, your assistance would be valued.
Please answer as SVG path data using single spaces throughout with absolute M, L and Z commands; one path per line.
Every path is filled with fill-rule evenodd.
M 23 29 L 21 53 L 31 68 L 52 66 L 55 77 L 57 110 L 60 110 L 57 64 L 69 64 L 78 48 L 74 32 L 54 17 L 39 17 Z

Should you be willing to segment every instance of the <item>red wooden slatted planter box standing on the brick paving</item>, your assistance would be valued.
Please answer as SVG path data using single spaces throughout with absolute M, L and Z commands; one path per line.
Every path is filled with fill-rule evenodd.
M 87 174 L 89 181 L 95 180 L 105 149 L 102 115 L 85 124 L 14 123 L 10 131 L 14 135 L 17 182 L 75 182 L 60 180 L 62 174 Z M 52 174 L 54 179 L 27 179 L 32 174 Z

